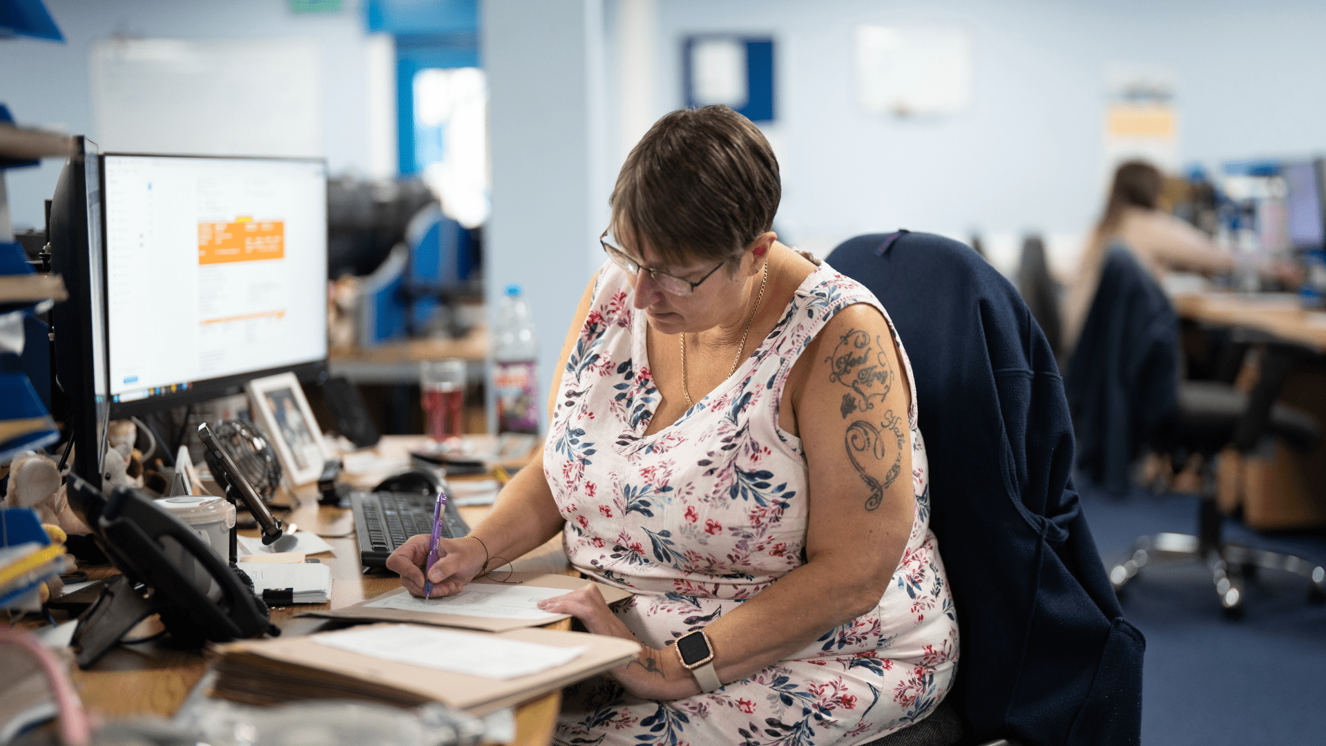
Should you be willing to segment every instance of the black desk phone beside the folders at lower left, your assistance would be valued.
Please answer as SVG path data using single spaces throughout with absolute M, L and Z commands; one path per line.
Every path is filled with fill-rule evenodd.
M 91 519 L 88 524 L 97 543 L 122 573 L 78 617 L 73 644 L 80 666 L 94 664 L 152 613 L 160 615 L 179 646 L 280 634 L 248 576 L 147 495 L 121 487 L 103 498 L 77 477 L 70 477 L 68 491 L 70 504 Z

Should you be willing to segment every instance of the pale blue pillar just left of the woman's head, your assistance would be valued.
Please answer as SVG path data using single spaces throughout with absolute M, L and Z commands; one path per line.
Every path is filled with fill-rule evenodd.
M 483 4 L 492 216 L 484 230 L 485 293 L 518 283 L 538 332 L 540 415 L 562 341 L 593 268 L 603 261 L 603 4 Z M 496 316 L 491 317 L 495 328 Z M 489 386 L 491 390 L 491 386 Z M 489 408 L 492 410 L 492 408 Z M 546 426 L 546 421 L 545 421 Z

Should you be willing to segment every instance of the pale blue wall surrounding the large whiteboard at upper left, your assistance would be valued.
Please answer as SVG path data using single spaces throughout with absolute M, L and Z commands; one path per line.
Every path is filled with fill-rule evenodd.
M 322 146 L 328 165 L 334 174 L 373 174 L 381 170 L 374 167 L 375 161 L 383 159 L 381 154 L 375 159 L 370 142 L 373 42 L 363 33 L 355 3 L 345 5 L 347 9 L 337 13 L 292 15 L 284 0 L 46 0 L 66 42 L 0 40 L 0 102 L 8 104 L 20 123 L 61 125 L 70 134 L 88 134 L 95 141 L 88 82 L 88 49 L 94 41 L 115 36 L 313 38 L 321 48 Z M 389 72 L 394 76 L 394 70 Z M 385 147 L 379 145 L 378 151 Z M 42 227 L 42 200 L 54 191 L 60 166 L 60 159 L 46 159 L 40 167 L 7 173 L 16 227 Z

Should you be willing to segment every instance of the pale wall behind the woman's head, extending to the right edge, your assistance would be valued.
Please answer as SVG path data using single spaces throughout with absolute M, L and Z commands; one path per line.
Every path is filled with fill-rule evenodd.
M 618 0 L 631 3 L 634 0 Z M 682 105 L 682 38 L 777 38 L 784 174 L 776 227 L 826 250 L 896 227 L 967 238 L 980 230 L 1016 260 L 1028 230 L 1087 230 L 1102 207 L 1105 70 L 1176 74 L 1184 162 L 1326 150 L 1326 4 L 1303 0 L 658 0 L 655 115 Z M 617 8 L 621 15 L 621 9 Z M 963 24 L 973 106 L 937 123 L 886 119 L 854 102 L 851 28 Z M 615 169 L 621 163 L 613 163 Z M 989 247 L 988 247 L 989 248 Z M 1054 247 L 1053 248 L 1059 248 Z M 1062 254 L 1062 248 L 1059 248 Z M 1002 267 L 1001 267 L 1002 268 Z

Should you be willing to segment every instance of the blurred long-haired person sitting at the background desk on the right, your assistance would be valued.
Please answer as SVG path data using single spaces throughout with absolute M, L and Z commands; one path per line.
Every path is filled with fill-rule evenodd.
M 1158 283 L 1175 269 L 1216 275 L 1235 268 L 1229 251 L 1189 223 L 1159 208 L 1164 177 L 1144 161 L 1128 161 L 1114 173 L 1105 215 L 1091 231 L 1077 276 L 1063 301 L 1065 349 L 1077 346 L 1101 280 L 1101 263 L 1113 244 L 1122 244 Z

